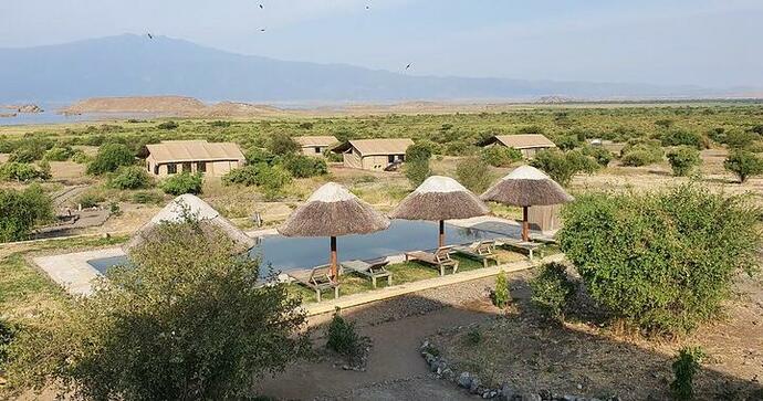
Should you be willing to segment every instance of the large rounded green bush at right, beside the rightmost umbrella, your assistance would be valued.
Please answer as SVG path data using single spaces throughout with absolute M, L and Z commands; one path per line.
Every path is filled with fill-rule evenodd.
M 734 276 L 756 271 L 760 211 L 746 198 L 686 184 L 588 193 L 563 210 L 558 240 L 590 297 L 649 334 L 717 316 Z

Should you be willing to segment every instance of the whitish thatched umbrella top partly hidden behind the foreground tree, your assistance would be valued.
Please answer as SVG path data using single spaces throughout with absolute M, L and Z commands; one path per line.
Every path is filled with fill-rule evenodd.
M 233 241 L 236 245 L 234 251 L 237 253 L 249 251 L 255 245 L 255 240 L 253 238 L 247 235 L 247 233 L 233 225 L 228 219 L 220 215 L 220 213 L 212 209 L 207 202 L 190 193 L 186 193 L 175 198 L 169 204 L 156 213 L 148 223 L 133 234 L 133 238 L 124 244 L 122 249 L 125 253 L 129 254 L 133 249 L 149 240 L 156 228 L 163 222 L 176 223 L 182 222 L 189 218 L 198 220 L 202 230 L 208 226 L 215 226 L 222 230 L 222 232 Z

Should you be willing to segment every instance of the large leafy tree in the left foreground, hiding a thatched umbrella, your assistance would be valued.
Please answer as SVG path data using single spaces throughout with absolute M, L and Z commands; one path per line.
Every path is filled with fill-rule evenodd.
M 306 355 L 305 315 L 285 284 L 259 282 L 219 229 L 163 223 L 65 314 L 30 321 L 10 349 L 17 389 L 61 384 L 94 400 L 251 399 Z

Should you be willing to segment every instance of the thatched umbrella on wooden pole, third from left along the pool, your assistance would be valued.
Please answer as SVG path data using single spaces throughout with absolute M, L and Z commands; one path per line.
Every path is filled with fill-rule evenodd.
M 440 222 L 438 246 L 445 245 L 445 221 L 484 215 L 490 209 L 475 194 L 449 177 L 431 176 L 389 213 L 393 219 Z

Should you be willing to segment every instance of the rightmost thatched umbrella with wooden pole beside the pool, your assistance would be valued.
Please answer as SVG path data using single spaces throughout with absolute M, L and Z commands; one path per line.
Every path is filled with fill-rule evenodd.
M 530 224 L 527 223 L 527 208 L 531 205 L 550 205 L 572 202 L 569 196 L 556 181 L 543 171 L 531 167 L 520 166 L 503 177 L 481 197 L 485 201 L 522 207 L 522 240 L 530 240 Z

